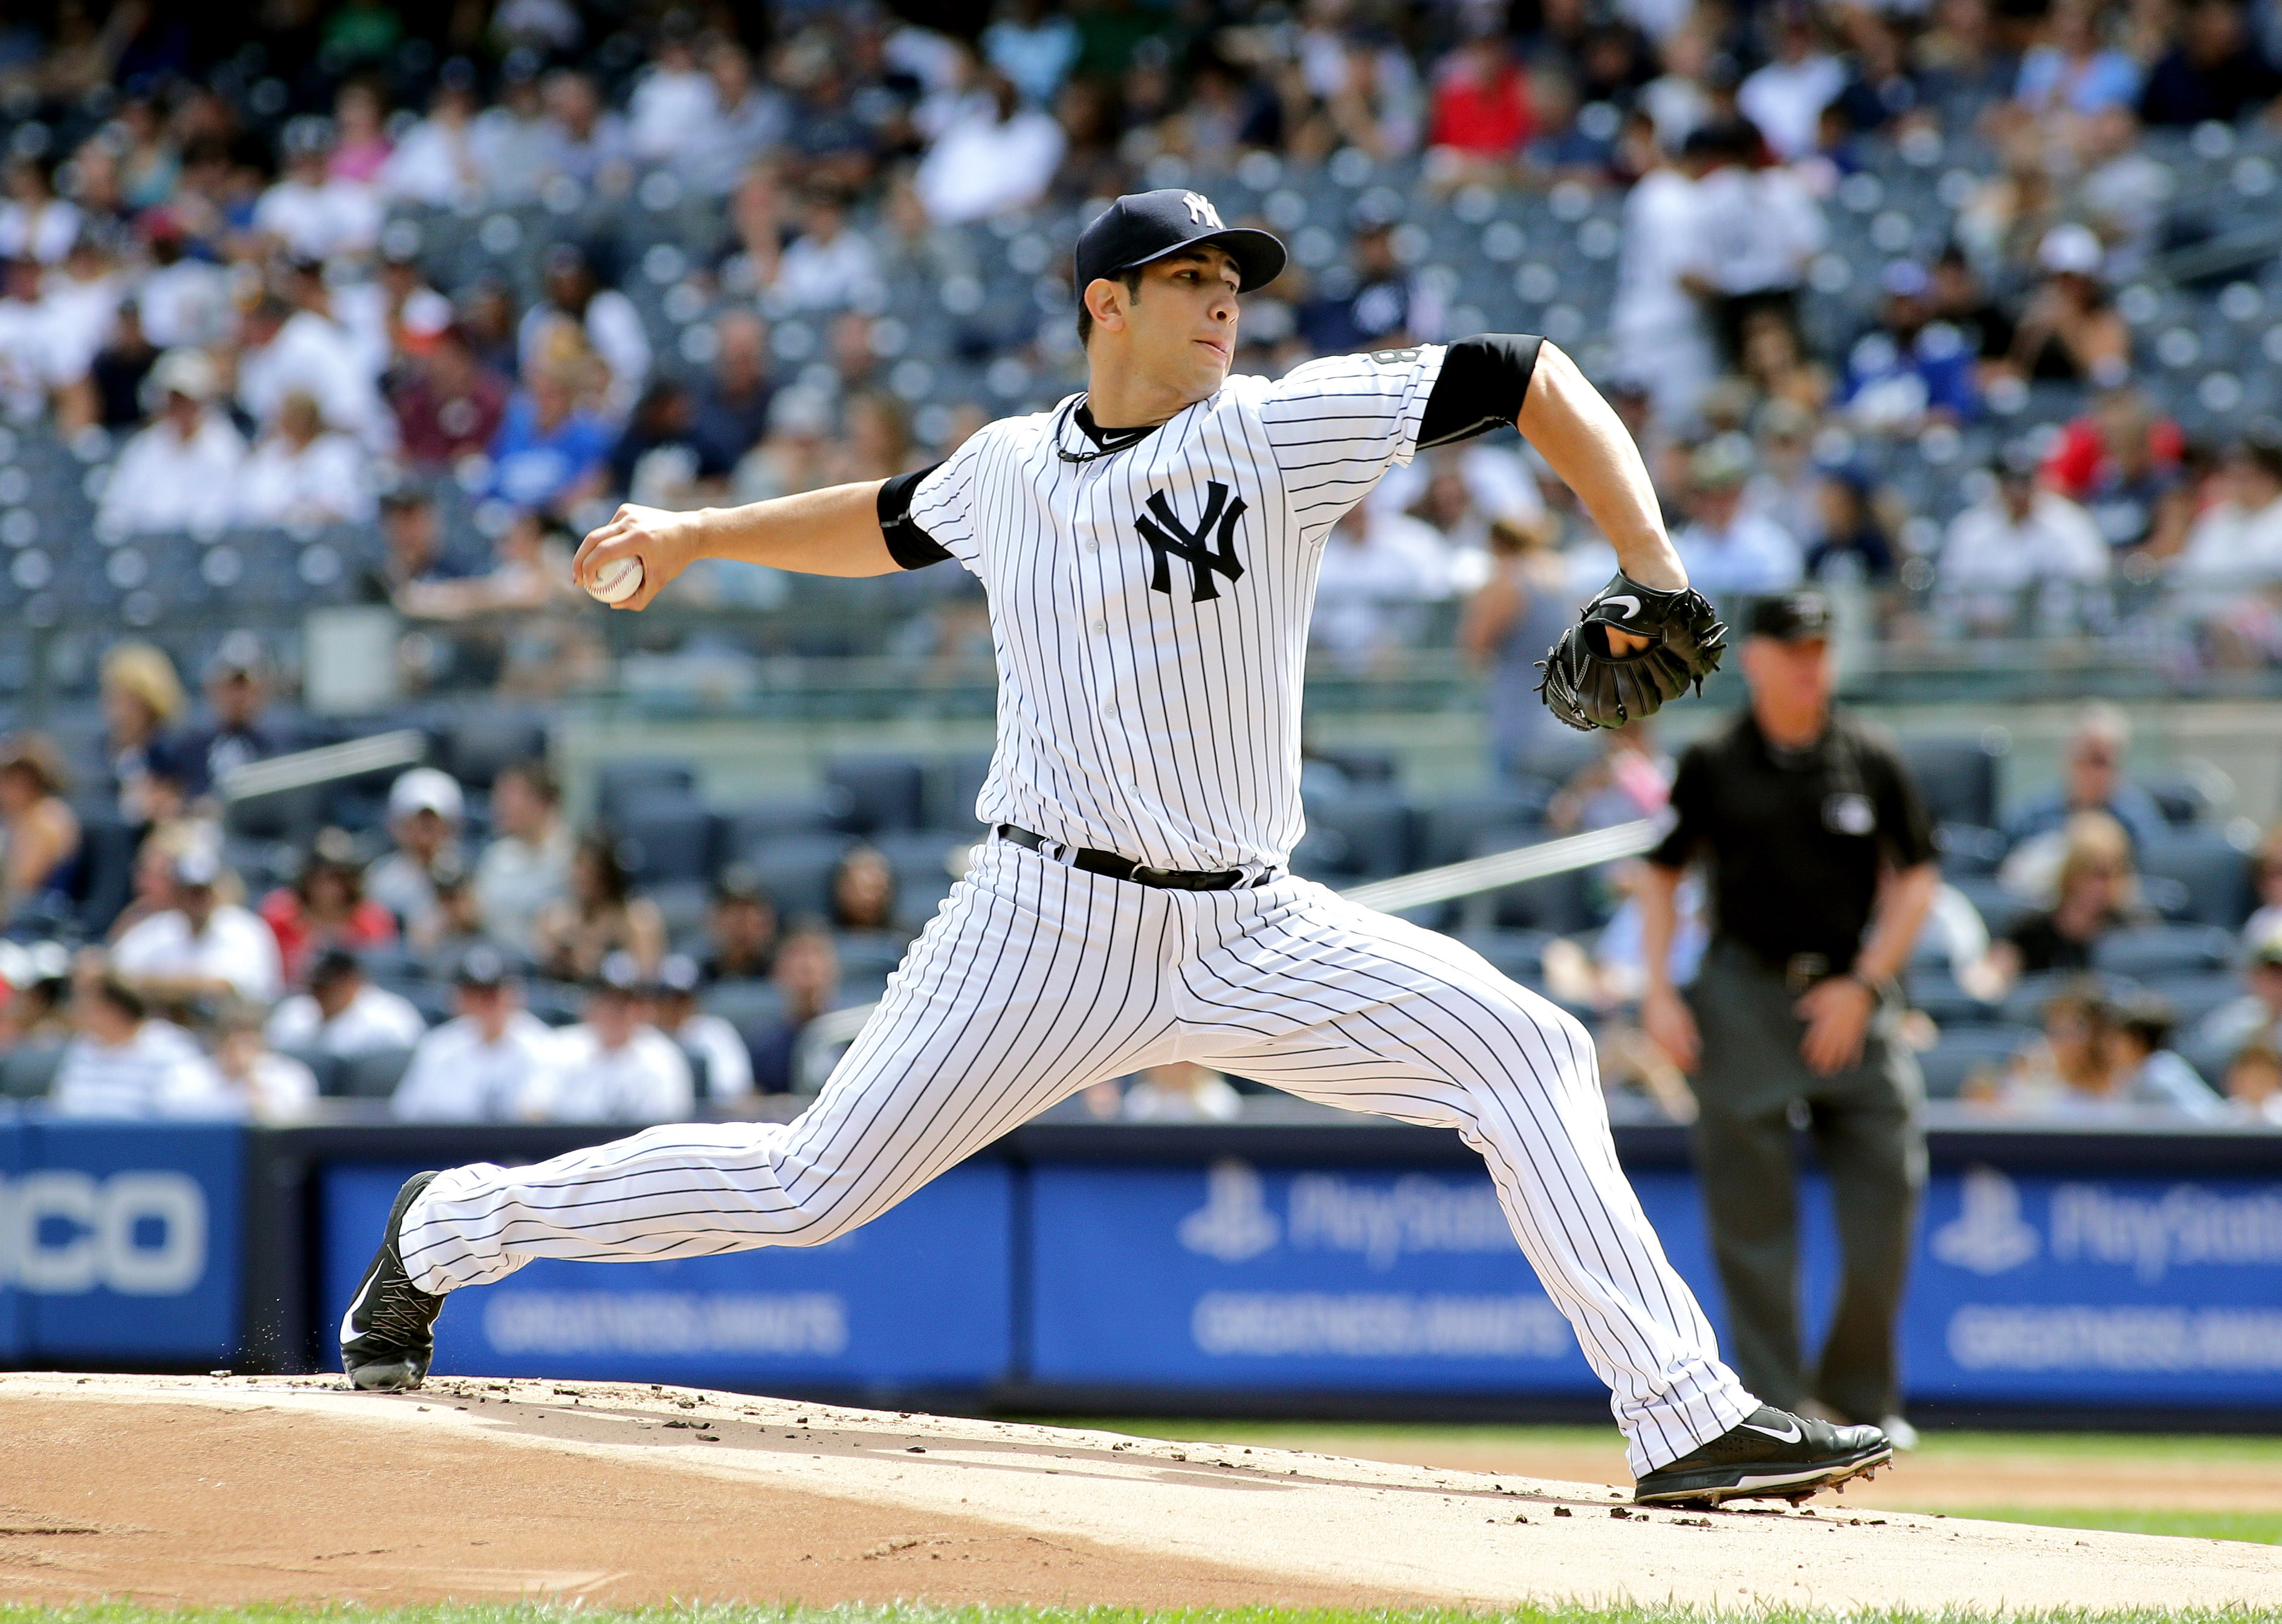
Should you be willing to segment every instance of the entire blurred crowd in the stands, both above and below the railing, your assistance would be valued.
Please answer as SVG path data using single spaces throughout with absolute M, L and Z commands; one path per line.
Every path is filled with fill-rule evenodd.
M 2277 62 L 2273 0 L 1004 0 L 963 25 L 801 0 L 11 9 L 0 417 L 25 458 L 0 468 L 0 593 L 46 625 L 73 579 L 180 550 L 226 627 L 260 582 L 217 536 L 354 531 L 372 545 L 342 591 L 413 627 L 413 680 L 577 689 L 609 661 L 566 573 L 593 515 L 885 477 L 1077 388 L 1077 224 L 1198 185 L 1294 246 L 1246 301 L 1241 367 L 1545 331 L 1618 404 L 1714 595 L 1819 579 L 1858 630 L 1969 645 L 2122 636 L 2152 591 L 2177 671 L 2268 668 Z M 34 468 L 34 440 L 68 456 Z M 91 536 L 55 534 L 64 500 Z M 1625 821 L 1670 762 L 1645 732 L 1559 757 L 1531 691 L 1611 568 L 1513 436 L 1433 452 L 1326 543 L 1319 657 L 1369 677 L 1451 639 L 1502 794 L 1545 789 L 1504 823 Z M 299 570 L 319 579 L 308 552 Z M 675 602 L 760 625 L 785 593 L 717 566 Z M 865 614 L 986 668 L 963 579 Z M 726 858 L 678 890 L 655 851 L 630 874 L 625 828 L 575 830 L 536 762 L 411 771 L 365 819 L 294 830 L 292 874 L 256 871 L 221 785 L 294 746 L 288 650 L 221 639 L 194 698 L 164 639 L 96 625 L 100 737 L 25 734 L 0 766 L 0 903 L 30 953 L 91 917 L 98 867 L 130 867 L 132 894 L 84 947 L 5 967 L 5 1093 L 735 1111 L 801 1081 L 808 1022 L 865 1001 L 913 924 L 908 853 L 837 837 L 828 887 L 783 921 Z M 2099 942 L 2156 928 L 2134 862 L 2161 817 L 2111 721 L 2072 750 L 2038 826 L 1958 848 L 1940 974 L 1960 1008 L 2033 1017 L 1958 1093 L 2282 1109 L 2259 1104 L 2282 860 L 2259 858 L 2250 931 L 2195 967 L 2198 1004 L 2214 976 L 2243 979 L 2234 1001 L 2175 1004 L 2159 1031 L 2099 979 Z M 114 833 L 123 858 L 98 848 Z M 1543 921 L 1529 979 L 1607 1010 L 1620 1083 L 1684 1113 L 1623 1022 L 1623 883 L 1595 883 L 1616 919 Z M 1180 1072 L 1093 1104 L 1214 1115 L 1225 1090 Z

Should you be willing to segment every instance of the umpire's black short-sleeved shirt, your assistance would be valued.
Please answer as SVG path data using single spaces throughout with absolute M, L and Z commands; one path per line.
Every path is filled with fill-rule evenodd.
M 1705 858 L 1712 928 L 1773 969 L 1821 953 L 1846 969 L 1862 947 L 1878 871 L 1933 860 L 1933 823 L 1901 753 L 1832 714 L 1805 750 L 1766 741 L 1746 709 L 1680 757 L 1673 830 L 1648 860 Z

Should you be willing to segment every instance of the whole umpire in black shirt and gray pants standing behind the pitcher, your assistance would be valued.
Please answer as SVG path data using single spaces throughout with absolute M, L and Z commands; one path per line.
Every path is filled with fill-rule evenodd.
M 1727 1293 L 1727 1348 L 1766 1403 L 1901 1414 L 1894 1321 L 1926 1182 L 1899 974 L 1933 903 L 1933 828 L 1892 741 L 1830 707 L 1830 604 L 1762 598 L 1750 705 L 1689 746 L 1648 855 L 1643 1024 L 1693 1074 L 1696 1166 Z M 1712 944 L 1682 999 L 1666 960 L 1702 860 Z M 1805 1106 L 1837 1207 L 1844 1282 L 1810 1366 L 1798 1337 L 1791 1120 Z

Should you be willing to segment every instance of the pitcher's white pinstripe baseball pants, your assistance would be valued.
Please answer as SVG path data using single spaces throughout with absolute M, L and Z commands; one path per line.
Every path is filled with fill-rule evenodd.
M 655 1127 L 438 1177 L 404 1220 L 418 1286 L 534 1257 L 817 1245 L 1086 1083 L 1203 1061 L 1308 1099 L 1454 1127 L 1609 1385 L 1634 1471 L 1755 1398 L 1616 1163 L 1593 1042 L 1467 947 L 1301 878 L 1107 880 L 988 842 L 796 1122 Z

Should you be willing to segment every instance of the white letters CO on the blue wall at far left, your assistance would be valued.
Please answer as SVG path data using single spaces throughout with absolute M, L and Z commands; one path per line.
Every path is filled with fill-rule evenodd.
M 171 1298 L 205 1273 L 205 1191 L 183 1172 L 0 1179 L 0 1284 Z

